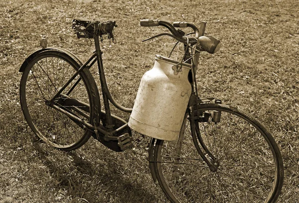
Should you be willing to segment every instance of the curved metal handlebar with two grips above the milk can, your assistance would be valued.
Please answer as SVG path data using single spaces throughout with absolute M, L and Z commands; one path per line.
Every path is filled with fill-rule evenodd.
M 172 25 L 171 23 L 162 21 L 162 20 L 143 19 L 143 20 L 140 20 L 140 25 L 145 26 L 145 27 L 153 27 L 153 26 L 159 26 L 159 25 L 164 26 L 167 29 L 169 29 L 171 34 L 174 35 L 175 39 L 177 39 L 178 41 L 183 42 L 183 43 L 187 43 L 187 41 L 189 41 L 191 43 L 196 43 L 197 39 L 199 37 L 198 28 L 194 24 L 188 23 L 188 22 L 174 22 Z M 195 37 L 189 37 L 189 39 L 187 40 L 186 38 L 183 38 L 182 34 L 180 32 L 178 32 L 175 29 L 175 27 L 190 27 L 194 30 Z

